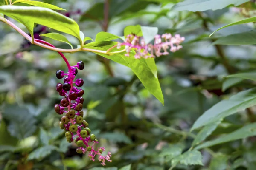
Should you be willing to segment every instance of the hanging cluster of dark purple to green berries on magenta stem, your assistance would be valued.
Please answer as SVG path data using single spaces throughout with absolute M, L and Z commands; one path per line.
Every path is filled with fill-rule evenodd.
M 89 153 L 88 157 L 90 160 L 95 161 L 94 157 L 98 155 L 98 159 L 105 165 L 105 161 L 111 162 L 111 153 L 102 156 L 102 152 L 105 151 L 104 147 L 100 147 L 95 150 L 93 147 L 98 140 L 94 134 L 91 134 L 91 130 L 88 128 L 89 124 L 83 120 L 84 112 L 83 102 L 84 90 L 79 89 L 84 85 L 83 79 L 75 79 L 78 70 L 84 69 L 84 62 L 78 62 L 77 65 L 71 66 L 69 72 L 64 73 L 64 71 L 58 70 L 56 72 L 56 77 L 58 79 L 63 79 L 63 83 L 58 83 L 56 85 L 56 91 L 58 91 L 60 96 L 64 96 L 61 99 L 60 105 L 56 104 L 54 106 L 56 113 L 62 116 L 61 122 L 59 123 L 60 128 L 64 129 L 67 142 L 75 142 L 78 146 L 76 149 L 77 153 Z M 75 85 L 78 87 L 75 87 Z M 92 145 L 89 143 L 93 142 Z

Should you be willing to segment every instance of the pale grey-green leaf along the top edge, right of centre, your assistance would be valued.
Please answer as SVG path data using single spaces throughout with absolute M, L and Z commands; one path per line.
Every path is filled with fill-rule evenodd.
M 225 8 L 233 4 L 239 6 L 242 3 L 246 3 L 250 0 L 184 0 L 183 2 L 177 3 L 172 10 L 175 11 L 206 11 L 206 10 L 217 10 Z

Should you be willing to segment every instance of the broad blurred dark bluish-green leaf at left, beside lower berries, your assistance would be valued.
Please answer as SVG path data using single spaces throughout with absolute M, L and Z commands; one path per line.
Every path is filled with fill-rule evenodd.
M 6 105 L 2 115 L 10 122 L 8 126 L 10 134 L 17 139 L 29 137 L 36 130 L 36 120 L 26 108 L 21 108 L 18 105 Z

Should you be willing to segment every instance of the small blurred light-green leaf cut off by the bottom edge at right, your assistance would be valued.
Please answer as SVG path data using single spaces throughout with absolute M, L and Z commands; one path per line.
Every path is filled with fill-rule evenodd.
M 212 158 L 209 170 L 226 170 L 228 167 L 227 161 L 229 156 L 218 154 Z

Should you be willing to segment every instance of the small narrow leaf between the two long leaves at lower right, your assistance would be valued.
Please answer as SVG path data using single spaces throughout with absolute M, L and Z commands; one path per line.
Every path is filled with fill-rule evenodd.
M 207 136 L 211 135 L 212 132 L 218 127 L 218 125 L 221 123 L 221 121 L 213 122 L 207 126 L 205 126 L 203 129 L 200 130 L 198 135 L 195 137 L 192 146 L 200 144 L 204 139 L 207 138 Z

